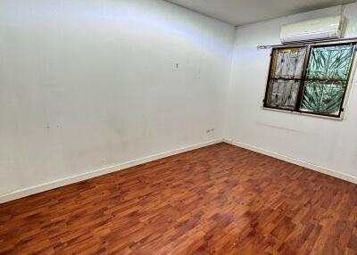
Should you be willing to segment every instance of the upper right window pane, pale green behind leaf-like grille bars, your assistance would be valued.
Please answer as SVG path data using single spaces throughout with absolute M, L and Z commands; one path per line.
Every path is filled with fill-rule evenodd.
M 355 45 L 317 46 L 311 50 L 307 79 L 347 80 Z

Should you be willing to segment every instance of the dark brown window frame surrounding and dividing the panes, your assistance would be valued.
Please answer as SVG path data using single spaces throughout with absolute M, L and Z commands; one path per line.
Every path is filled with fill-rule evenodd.
M 346 79 L 346 84 L 345 84 L 345 91 L 344 95 L 341 101 L 341 105 L 338 111 L 338 115 L 331 115 L 331 114 L 326 114 L 326 113 L 319 113 L 319 112 L 309 112 L 309 111 L 301 111 L 301 104 L 303 103 L 303 88 L 305 85 L 306 81 L 306 76 L 307 76 L 307 68 L 308 64 L 310 61 L 311 57 L 311 50 L 313 46 L 333 46 L 333 45 L 351 45 L 354 44 L 354 51 L 352 55 L 352 60 L 351 60 L 351 68 L 348 72 L 348 76 Z M 303 62 L 303 71 L 302 71 L 302 77 L 300 79 L 295 79 L 295 80 L 300 80 L 300 86 L 298 89 L 298 95 L 296 96 L 296 104 L 295 104 L 295 109 L 284 109 L 284 108 L 279 108 L 279 107 L 274 107 L 268 105 L 269 102 L 269 95 L 270 95 L 270 82 L 271 80 L 278 79 L 278 78 L 273 78 L 272 77 L 272 65 L 274 64 L 273 61 L 275 61 L 275 58 L 273 57 L 273 53 L 277 49 L 289 49 L 289 48 L 296 48 L 296 47 L 305 47 L 306 48 L 306 54 L 305 54 L 305 59 Z M 269 65 L 269 70 L 268 70 L 268 77 L 267 77 L 267 82 L 265 86 L 265 93 L 264 93 L 264 99 L 263 99 L 263 105 L 262 108 L 266 110 L 273 110 L 273 111 L 283 111 L 283 112 L 291 112 L 291 113 L 296 113 L 300 115 L 310 115 L 310 116 L 316 116 L 316 117 L 322 117 L 322 118 L 327 118 L 327 119 L 342 119 L 343 114 L 345 112 L 345 103 L 346 99 L 349 95 L 352 82 L 353 82 L 353 76 L 355 72 L 355 67 L 356 67 L 356 52 L 357 52 L 357 39 L 353 40 L 344 40 L 344 41 L 330 41 L 330 42 L 317 42 L 317 43 L 303 43 L 303 44 L 296 44 L 296 45 L 277 45 L 277 46 L 272 46 L 271 51 L 270 51 L 270 65 Z M 284 79 L 284 78 L 282 78 Z M 294 78 L 293 78 L 294 80 Z

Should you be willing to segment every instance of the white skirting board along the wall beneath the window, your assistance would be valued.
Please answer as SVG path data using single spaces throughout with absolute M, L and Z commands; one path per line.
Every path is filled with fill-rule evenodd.
M 331 176 L 331 177 L 336 177 L 336 178 L 343 179 L 345 181 L 357 184 L 357 177 L 353 177 L 351 175 L 338 172 L 336 170 L 320 167 L 320 166 L 312 164 L 310 162 L 306 162 L 306 161 L 303 161 L 303 160 L 298 160 L 298 159 L 291 158 L 291 157 L 288 157 L 288 156 L 285 156 L 285 155 L 281 155 L 281 154 L 279 154 L 277 152 L 270 152 L 268 150 L 264 150 L 262 148 L 259 148 L 259 147 L 253 146 L 253 145 L 238 143 L 236 141 L 232 141 L 232 140 L 229 140 L 229 139 L 223 139 L 223 142 L 227 143 L 227 144 L 235 145 L 237 147 L 245 148 L 245 149 L 247 149 L 249 151 L 262 153 L 264 155 L 276 158 L 278 160 L 284 160 L 286 162 L 293 163 L 295 165 L 301 166 L 301 167 L 303 167 L 305 169 L 311 169 L 311 170 L 320 172 L 322 174 L 326 174 L 326 175 Z

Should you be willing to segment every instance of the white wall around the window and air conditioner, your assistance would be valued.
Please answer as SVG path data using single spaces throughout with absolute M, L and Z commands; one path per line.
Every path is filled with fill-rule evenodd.
M 345 37 L 357 37 L 357 4 L 344 5 L 342 11 L 348 21 Z M 237 28 L 225 138 L 357 180 L 357 78 L 353 79 L 343 121 L 262 109 L 270 50 L 258 51 L 257 45 L 279 44 L 283 24 L 340 12 L 341 6 L 337 6 Z

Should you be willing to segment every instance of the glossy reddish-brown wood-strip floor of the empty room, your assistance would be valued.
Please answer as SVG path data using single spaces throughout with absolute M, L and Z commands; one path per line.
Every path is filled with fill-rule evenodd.
M 228 144 L 0 205 L 0 254 L 357 254 L 357 185 Z

